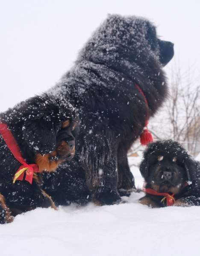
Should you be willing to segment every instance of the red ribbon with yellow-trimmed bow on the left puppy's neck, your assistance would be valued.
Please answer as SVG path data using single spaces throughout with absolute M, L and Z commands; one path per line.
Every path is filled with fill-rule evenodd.
M 32 184 L 33 175 L 35 175 L 35 172 L 39 172 L 38 165 L 26 163 L 26 161 L 22 157 L 20 148 L 15 138 L 13 137 L 11 131 L 8 129 L 8 126 L 5 123 L 0 123 L 0 134 L 15 159 L 22 164 L 18 171 L 15 173 L 13 183 L 15 183 L 15 181 L 17 180 L 22 181 L 24 178 L 24 172 L 26 172 L 25 181 L 28 181 L 30 184 Z

